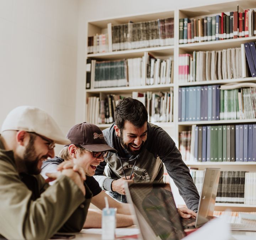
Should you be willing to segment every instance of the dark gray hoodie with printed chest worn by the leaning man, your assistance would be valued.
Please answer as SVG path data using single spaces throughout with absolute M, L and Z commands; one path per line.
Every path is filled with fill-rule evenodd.
M 111 189 L 112 181 L 124 176 L 123 169 L 126 176 L 130 176 L 134 166 L 134 182 L 162 182 L 164 163 L 167 173 L 174 180 L 187 207 L 197 212 L 198 191 L 187 165 L 182 161 L 180 151 L 178 151 L 168 133 L 161 127 L 148 123 L 147 140 L 142 147 L 142 151 L 138 155 L 126 158 L 113 126 L 114 124 L 103 130 L 103 134 L 107 144 L 117 149 L 117 153 L 109 152 L 105 161 L 98 165 L 94 175 L 101 188 L 110 191 L 110 194 L 118 201 L 126 202 L 125 195 L 112 192 Z M 123 169 L 120 162 L 123 164 Z M 107 176 L 104 173 L 106 165 L 108 167 Z

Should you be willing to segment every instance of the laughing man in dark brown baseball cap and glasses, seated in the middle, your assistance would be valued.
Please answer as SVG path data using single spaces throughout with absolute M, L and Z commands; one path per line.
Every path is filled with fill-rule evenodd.
M 92 192 L 91 202 L 103 209 L 105 207 L 104 197 L 108 199 L 110 207 L 117 208 L 117 227 L 127 227 L 133 224 L 132 216 L 130 216 L 129 205 L 119 203 L 104 191 L 102 191 L 98 182 L 94 179 L 96 167 L 104 161 L 103 156 L 107 152 L 116 153 L 116 149 L 108 146 L 105 142 L 102 131 L 94 124 L 83 122 L 73 126 L 66 137 L 70 140 L 70 144 L 66 145 L 55 157 L 43 162 L 42 175 L 47 178 L 45 173 L 54 173 L 58 165 L 63 162 L 72 162 L 82 167 L 86 174 L 85 184 Z M 89 209 L 84 224 L 85 228 L 101 227 L 101 210 Z

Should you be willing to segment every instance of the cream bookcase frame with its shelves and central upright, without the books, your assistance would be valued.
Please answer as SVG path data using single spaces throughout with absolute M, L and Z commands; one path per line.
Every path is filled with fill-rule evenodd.
M 191 130 L 192 125 L 207 126 L 207 125 L 236 125 L 236 124 L 256 124 L 256 119 L 242 119 L 242 120 L 211 120 L 211 121 L 178 121 L 178 89 L 180 87 L 189 86 L 211 86 L 216 84 L 226 84 L 233 82 L 252 82 L 256 83 L 256 77 L 245 77 L 245 78 L 232 78 L 223 80 L 211 80 L 211 81 L 200 81 L 200 82 L 180 82 L 178 80 L 179 71 L 179 54 L 192 54 L 193 51 L 218 51 L 227 48 L 239 48 L 241 44 L 248 42 L 256 42 L 256 36 L 254 37 L 243 37 L 235 39 L 224 39 L 206 41 L 200 43 L 186 43 L 179 44 L 179 20 L 180 18 L 201 18 L 204 16 L 214 16 L 221 12 L 236 11 L 236 6 L 239 5 L 239 9 L 244 11 L 245 9 L 256 8 L 256 2 L 254 0 L 243 0 L 243 1 L 232 1 L 222 4 L 198 6 L 184 9 L 172 9 L 170 11 L 156 12 L 156 13 L 143 13 L 138 16 L 120 16 L 111 19 L 102 19 L 97 21 L 87 22 L 87 37 L 93 36 L 94 34 L 107 34 L 108 23 L 112 26 L 117 24 L 125 24 L 129 21 L 143 22 L 157 20 L 158 18 L 174 17 L 174 44 L 167 46 L 138 48 L 129 50 L 112 51 L 105 53 L 86 53 L 86 59 L 93 60 L 120 60 L 128 58 L 143 58 L 145 52 L 149 52 L 156 58 L 166 59 L 170 56 L 174 59 L 173 71 L 173 83 L 169 84 L 153 84 L 145 86 L 126 86 L 126 87 L 111 87 L 111 88 L 91 88 L 85 90 L 85 99 L 88 97 L 99 97 L 103 99 L 107 94 L 120 94 L 124 97 L 132 95 L 133 91 L 137 92 L 159 92 L 159 91 L 173 91 L 173 120 L 171 122 L 155 122 L 156 125 L 164 128 L 169 135 L 174 139 L 176 144 L 179 141 L 179 132 Z M 86 38 L 87 39 L 87 38 Z M 87 108 L 85 108 L 85 119 L 86 119 Z M 105 129 L 112 124 L 98 124 L 101 129 Z M 206 167 L 220 167 L 224 171 L 256 171 L 256 162 L 185 162 L 189 167 L 198 168 L 202 170 Z M 222 210 L 225 208 L 231 208 L 234 211 L 251 211 L 255 207 L 254 205 L 246 204 L 229 204 L 229 203 L 216 203 L 216 209 Z

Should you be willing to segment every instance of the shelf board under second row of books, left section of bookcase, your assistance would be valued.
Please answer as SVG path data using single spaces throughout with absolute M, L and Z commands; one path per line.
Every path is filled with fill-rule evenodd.
M 146 85 L 146 86 L 135 86 L 135 87 L 112 87 L 112 88 L 94 88 L 86 89 L 87 93 L 132 93 L 133 91 L 169 91 L 170 87 L 174 87 L 173 83 L 170 84 L 159 84 L 159 85 Z

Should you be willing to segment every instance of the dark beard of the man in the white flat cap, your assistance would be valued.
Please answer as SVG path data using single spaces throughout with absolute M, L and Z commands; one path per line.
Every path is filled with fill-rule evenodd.
M 35 148 L 34 148 L 34 140 L 35 136 L 32 134 L 30 135 L 30 141 L 28 143 L 28 146 L 26 147 L 24 156 L 23 156 L 23 162 L 26 165 L 27 174 L 30 175 L 37 175 L 41 173 L 41 169 L 38 168 L 38 162 L 39 158 L 36 157 Z

